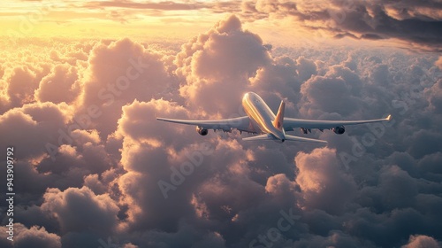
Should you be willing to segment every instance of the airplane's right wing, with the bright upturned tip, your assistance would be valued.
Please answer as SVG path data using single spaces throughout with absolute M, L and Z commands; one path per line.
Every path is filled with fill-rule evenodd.
M 317 128 L 320 130 L 337 128 L 346 125 L 357 125 L 363 123 L 373 123 L 380 121 L 389 121 L 392 119 L 392 115 L 388 115 L 384 119 L 375 119 L 375 120 L 303 120 L 303 119 L 294 119 L 294 118 L 284 118 L 283 126 L 286 130 L 291 130 L 294 128 L 302 128 L 304 133 L 307 130 Z

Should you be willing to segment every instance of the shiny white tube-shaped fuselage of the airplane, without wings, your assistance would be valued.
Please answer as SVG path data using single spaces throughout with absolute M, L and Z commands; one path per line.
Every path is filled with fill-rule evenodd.
M 242 107 L 253 121 L 255 128 L 258 128 L 262 134 L 271 134 L 282 142 L 286 140 L 284 128 L 279 130 L 273 126 L 273 120 L 276 116 L 269 105 L 265 104 L 263 98 L 254 92 L 248 92 L 242 97 Z

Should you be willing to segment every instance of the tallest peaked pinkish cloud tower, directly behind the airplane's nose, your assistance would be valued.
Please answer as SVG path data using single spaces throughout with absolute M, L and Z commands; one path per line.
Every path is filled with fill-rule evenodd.
M 176 74 L 186 79 L 180 96 L 203 114 L 237 113 L 248 78 L 270 62 L 262 39 L 243 30 L 240 19 L 232 15 L 183 45 L 175 59 Z M 209 101 L 212 105 L 206 104 Z

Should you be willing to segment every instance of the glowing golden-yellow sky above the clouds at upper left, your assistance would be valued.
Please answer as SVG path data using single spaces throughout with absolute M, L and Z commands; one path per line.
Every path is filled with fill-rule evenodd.
M 222 16 L 210 2 L 5 1 L 1 35 L 189 38 Z M 204 6 L 203 6 L 204 5 Z

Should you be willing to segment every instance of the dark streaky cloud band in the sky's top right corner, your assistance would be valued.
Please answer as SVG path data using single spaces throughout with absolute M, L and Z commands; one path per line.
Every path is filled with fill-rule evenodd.
M 396 38 L 426 50 L 442 50 L 439 1 L 244 1 L 248 19 L 293 17 L 312 31 L 337 38 Z M 252 17 L 250 17 L 252 16 Z M 293 24 L 294 25 L 294 24 Z

